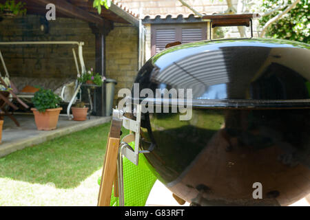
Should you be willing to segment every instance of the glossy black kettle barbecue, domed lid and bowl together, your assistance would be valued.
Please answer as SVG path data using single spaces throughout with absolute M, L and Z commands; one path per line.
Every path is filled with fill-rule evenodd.
M 138 99 L 155 112 L 142 115 L 141 148 L 152 148 L 145 156 L 158 179 L 197 206 L 287 206 L 308 195 L 309 49 L 282 40 L 199 41 L 147 61 L 135 83 L 153 92 L 149 102 Z

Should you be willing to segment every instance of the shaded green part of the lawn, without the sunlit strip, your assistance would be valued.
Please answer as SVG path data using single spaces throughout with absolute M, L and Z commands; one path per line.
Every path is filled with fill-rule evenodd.
M 0 177 L 75 188 L 102 168 L 109 131 L 107 123 L 14 152 L 0 159 Z

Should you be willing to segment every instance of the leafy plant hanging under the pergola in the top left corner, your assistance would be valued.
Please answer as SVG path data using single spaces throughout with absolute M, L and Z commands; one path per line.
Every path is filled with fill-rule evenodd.
M 0 12 L 2 17 L 12 18 L 25 15 L 27 10 L 25 9 L 25 3 L 21 1 L 15 3 L 14 0 L 8 0 L 6 3 L 0 4 Z

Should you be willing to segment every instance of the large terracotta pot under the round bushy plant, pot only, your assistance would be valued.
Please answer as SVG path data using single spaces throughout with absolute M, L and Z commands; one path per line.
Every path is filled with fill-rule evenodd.
M 63 108 L 46 109 L 44 113 L 41 113 L 34 108 L 31 110 L 34 113 L 34 120 L 36 122 L 37 129 L 39 131 L 51 131 L 56 129 L 59 113 L 63 110 Z

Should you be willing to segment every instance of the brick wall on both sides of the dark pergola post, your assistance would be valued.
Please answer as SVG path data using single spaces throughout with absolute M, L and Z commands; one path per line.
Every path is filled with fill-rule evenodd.
M 95 67 L 95 36 L 88 23 L 57 18 L 48 23 L 49 32 L 45 34 L 40 29 L 41 18 L 28 15 L 22 19 L 1 21 L 0 41 L 83 41 L 86 68 Z M 119 23 L 114 27 L 107 35 L 105 45 L 107 78 L 118 81 L 115 106 L 118 90 L 131 88 L 138 72 L 138 28 Z M 12 77 L 76 78 L 71 46 L 1 46 L 0 49 Z M 2 67 L 0 72 L 4 72 Z

